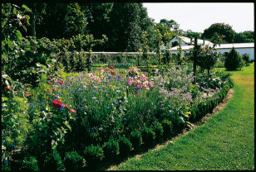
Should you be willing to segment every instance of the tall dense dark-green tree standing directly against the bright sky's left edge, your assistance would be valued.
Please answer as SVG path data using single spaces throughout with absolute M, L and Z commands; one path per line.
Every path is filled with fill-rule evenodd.
M 144 22 L 141 22 L 144 21 Z M 142 3 L 114 3 L 110 12 L 109 50 L 138 51 L 142 31 L 152 26 Z

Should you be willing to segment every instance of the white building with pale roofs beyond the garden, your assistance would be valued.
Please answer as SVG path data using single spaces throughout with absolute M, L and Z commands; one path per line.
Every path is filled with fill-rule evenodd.
M 194 39 L 192 40 L 192 42 L 190 41 L 190 38 L 188 37 L 183 37 L 180 36 L 180 38 L 182 38 L 182 44 L 181 44 L 181 48 L 183 50 L 183 55 L 185 51 L 190 51 L 192 50 L 192 48 L 194 48 Z M 172 39 L 170 41 L 170 45 L 172 45 L 175 41 L 179 42 L 179 40 L 175 37 L 174 39 Z M 210 45 L 213 46 L 214 43 L 210 42 L 210 41 L 204 41 L 204 40 L 200 40 L 198 39 L 198 44 L 204 44 L 204 45 Z M 231 43 L 231 44 L 220 44 L 216 45 L 217 48 L 217 52 L 220 53 L 224 53 L 224 52 L 228 52 L 233 48 L 237 50 L 240 55 L 244 55 L 245 53 L 249 54 L 251 56 L 251 60 L 254 60 L 254 42 L 247 42 L 247 43 Z M 171 47 L 171 46 L 170 46 Z M 175 54 L 177 55 L 177 53 L 179 52 L 179 50 L 177 50 L 178 45 L 170 48 L 169 50 L 171 51 L 171 54 Z M 165 50 L 166 47 L 163 46 L 160 50 Z

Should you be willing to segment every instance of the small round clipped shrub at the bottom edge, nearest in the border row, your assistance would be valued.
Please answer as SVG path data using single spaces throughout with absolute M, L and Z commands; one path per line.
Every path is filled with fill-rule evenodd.
M 82 156 L 78 155 L 76 151 L 66 152 L 64 165 L 66 170 L 81 170 L 83 165 Z

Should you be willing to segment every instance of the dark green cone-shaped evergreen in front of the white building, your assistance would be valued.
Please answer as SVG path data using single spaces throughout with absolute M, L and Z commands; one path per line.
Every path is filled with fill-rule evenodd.
M 229 54 L 225 60 L 225 68 L 228 70 L 241 69 L 244 67 L 244 61 L 242 56 L 239 54 L 234 47 L 229 51 Z

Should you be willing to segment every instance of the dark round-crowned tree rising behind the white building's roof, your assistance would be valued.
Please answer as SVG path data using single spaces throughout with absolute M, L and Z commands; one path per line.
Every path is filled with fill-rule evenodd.
M 211 26 L 209 26 L 209 28 L 204 29 L 204 33 L 202 34 L 202 37 L 210 41 L 210 39 L 214 37 L 214 35 L 216 35 L 215 33 L 217 33 L 219 36 L 224 36 L 223 41 L 227 41 L 228 43 L 234 42 L 235 31 L 232 29 L 232 26 L 229 26 L 229 24 L 214 23 Z

